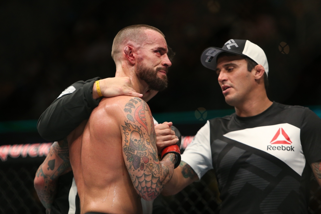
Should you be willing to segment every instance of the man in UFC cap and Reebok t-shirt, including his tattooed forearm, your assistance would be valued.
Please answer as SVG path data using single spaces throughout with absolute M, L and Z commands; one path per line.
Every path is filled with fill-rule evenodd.
M 311 168 L 321 185 L 320 118 L 268 99 L 265 53 L 248 40 L 207 48 L 201 62 L 216 71 L 236 112 L 197 132 L 162 194 L 176 194 L 214 169 L 220 213 L 308 213 Z

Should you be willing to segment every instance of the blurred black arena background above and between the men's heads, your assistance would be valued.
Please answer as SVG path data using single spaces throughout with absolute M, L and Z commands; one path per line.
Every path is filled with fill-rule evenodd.
M 169 87 L 153 113 L 231 108 L 201 52 L 247 39 L 266 53 L 268 96 L 291 105 L 320 105 L 319 0 L 1 1 L 0 121 L 38 119 L 69 85 L 112 77 L 117 32 L 128 25 L 159 28 L 176 52 Z M 290 51 L 282 54 L 279 44 Z

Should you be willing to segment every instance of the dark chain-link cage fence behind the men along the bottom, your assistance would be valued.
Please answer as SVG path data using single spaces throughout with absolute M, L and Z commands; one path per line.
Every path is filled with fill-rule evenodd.
M 2 163 L 0 167 L 0 213 L 45 213 L 33 187 L 41 160 Z M 43 160 L 43 159 L 42 159 Z M 321 188 L 311 176 L 309 212 L 320 213 Z M 219 213 L 221 201 L 213 170 L 174 196 L 162 196 L 168 213 Z

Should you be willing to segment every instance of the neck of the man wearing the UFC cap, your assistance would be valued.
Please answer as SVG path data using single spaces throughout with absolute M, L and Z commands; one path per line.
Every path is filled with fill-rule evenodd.
M 267 97 L 265 90 L 262 93 L 252 93 L 249 97 L 246 101 L 240 102 L 239 105 L 235 106 L 236 115 L 240 117 L 255 116 L 273 104 Z

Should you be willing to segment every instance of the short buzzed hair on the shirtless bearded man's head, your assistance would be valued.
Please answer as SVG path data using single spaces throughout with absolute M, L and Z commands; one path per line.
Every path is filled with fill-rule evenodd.
M 146 24 L 136 24 L 131 25 L 126 28 L 121 29 L 114 38 L 113 46 L 111 48 L 111 57 L 115 60 L 115 56 L 121 53 L 120 50 L 121 44 L 126 41 L 133 41 L 136 44 L 142 44 L 143 41 L 147 39 L 147 36 L 144 30 L 153 30 L 159 32 L 163 37 L 165 35 L 157 28 L 146 25 Z

